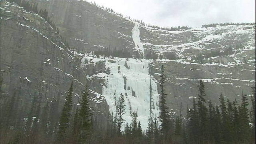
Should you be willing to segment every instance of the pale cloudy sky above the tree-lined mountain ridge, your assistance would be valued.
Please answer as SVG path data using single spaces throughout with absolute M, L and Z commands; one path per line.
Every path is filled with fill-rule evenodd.
M 87 0 L 90 2 L 89 0 Z M 255 22 L 255 0 L 94 0 L 123 16 L 162 27 Z

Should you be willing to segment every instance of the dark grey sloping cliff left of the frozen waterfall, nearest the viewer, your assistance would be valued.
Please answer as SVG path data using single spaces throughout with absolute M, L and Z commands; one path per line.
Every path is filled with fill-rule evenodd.
M 73 81 L 75 110 L 88 83 L 81 60 L 64 46 L 60 36 L 43 18 L 15 4 L 1 2 L 0 36 L 1 104 L 8 99 L 5 96 L 13 92 L 21 96 L 21 105 L 30 106 L 34 96 L 42 98 L 43 102 L 59 97 L 64 103 Z M 89 83 L 88 86 L 91 87 Z M 94 118 L 106 124 L 108 105 L 91 92 L 91 106 L 97 109 Z

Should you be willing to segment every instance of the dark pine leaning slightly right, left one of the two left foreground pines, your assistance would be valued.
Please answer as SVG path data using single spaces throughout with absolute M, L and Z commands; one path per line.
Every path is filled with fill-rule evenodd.
M 73 82 L 70 84 L 70 88 L 68 90 L 68 94 L 65 97 L 64 107 L 60 114 L 59 120 L 59 130 L 57 134 L 57 141 L 63 142 L 64 138 L 67 136 L 67 130 L 70 126 L 70 117 L 72 110 L 72 93 L 73 93 Z

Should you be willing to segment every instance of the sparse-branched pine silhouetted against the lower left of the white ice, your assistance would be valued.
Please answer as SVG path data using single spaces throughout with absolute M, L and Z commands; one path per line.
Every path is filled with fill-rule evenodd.
M 121 128 L 122 124 L 124 123 L 123 115 L 125 114 L 125 104 L 124 104 L 124 95 L 122 93 L 120 94 L 120 97 L 118 98 L 118 102 L 116 104 L 116 114 L 115 114 L 115 121 L 117 125 L 117 132 L 119 135 L 121 135 Z

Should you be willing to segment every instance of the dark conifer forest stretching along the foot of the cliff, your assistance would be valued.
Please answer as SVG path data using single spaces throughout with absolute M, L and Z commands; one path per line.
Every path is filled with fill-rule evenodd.
M 255 87 L 251 92 L 241 92 L 241 102 L 230 101 L 222 93 L 219 104 L 205 99 L 204 82 L 198 84 L 198 98 L 192 108 L 171 116 L 166 106 L 164 66 L 161 68 L 160 116 L 148 116 L 148 129 L 142 131 L 137 112 L 132 113 L 132 123 L 124 123 L 124 95 L 116 104 L 112 121 L 103 130 L 92 119 L 89 107 L 89 90 L 86 87 L 79 106 L 74 106 L 73 84 L 70 84 L 61 106 L 59 98 L 42 100 L 34 96 L 31 105 L 21 106 L 20 93 L 7 97 L 1 104 L 2 144 L 254 144 L 255 143 Z M 150 91 L 150 89 L 149 89 Z M 217 94 L 217 93 L 216 93 Z M 151 103 L 151 102 L 150 102 Z M 252 107 L 248 108 L 249 103 Z M 149 110 L 151 106 L 149 104 Z M 113 117 L 114 115 L 114 117 Z

